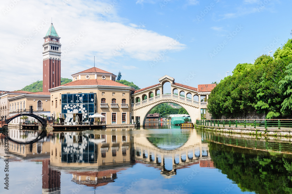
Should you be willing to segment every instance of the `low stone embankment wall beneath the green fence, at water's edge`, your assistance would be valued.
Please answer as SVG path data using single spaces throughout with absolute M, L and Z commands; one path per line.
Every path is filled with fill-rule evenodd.
M 239 128 L 239 127 L 211 127 L 196 125 L 195 128 L 199 128 L 207 131 L 218 131 L 226 133 L 237 133 L 237 134 L 249 134 L 249 135 L 265 135 L 265 136 L 284 136 L 291 137 L 292 132 L 290 129 L 255 129 L 255 128 Z

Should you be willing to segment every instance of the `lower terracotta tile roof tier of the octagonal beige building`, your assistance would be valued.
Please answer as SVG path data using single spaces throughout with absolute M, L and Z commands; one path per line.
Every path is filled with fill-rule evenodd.
M 79 79 L 74 82 L 69 82 L 67 84 L 63 84 L 61 86 L 90 86 L 90 85 L 101 85 L 101 86 L 126 86 L 119 82 L 115 82 L 112 80 L 103 80 L 103 79 Z M 129 86 L 126 86 L 129 87 Z

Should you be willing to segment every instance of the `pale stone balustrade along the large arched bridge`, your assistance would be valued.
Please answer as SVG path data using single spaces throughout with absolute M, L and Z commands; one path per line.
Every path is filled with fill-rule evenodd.
M 183 96 L 178 96 L 175 94 L 162 94 L 162 95 L 154 96 L 152 98 L 135 103 L 135 106 L 144 105 L 144 104 L 150 103 L 152 101 L 156 101 L 158 99 L 160 100 L 161 98 L 173 98 L 173 99 L 177 99 L 179 101 L 184 101 L 184 102 L 188 102 L 188 103 L 192 103 L 192 104 L 196 104 L 196 105 L 207 105 L 207 102 L 199 102 L 199 101 L 195 101 L 195 100 L 192 100 L 190 98 L 185 98 Z

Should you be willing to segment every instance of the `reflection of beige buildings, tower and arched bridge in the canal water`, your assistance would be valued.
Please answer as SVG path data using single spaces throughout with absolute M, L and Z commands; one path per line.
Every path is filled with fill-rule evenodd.
M 137 163 L 160 169 L 164 178 L 194 164 L 214 167 L 201 136 L 170 130 L 166 137 L 144 129 L 51 132 L 32 143 L 41 131 L 9 129 L 9 150 L 24 160 L 42 162 L 43 193 L 60 193 L 60 172 L 72 174 L 77 184 L 98 187 L 114 182 L 120 171 Z

